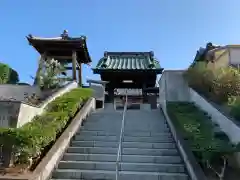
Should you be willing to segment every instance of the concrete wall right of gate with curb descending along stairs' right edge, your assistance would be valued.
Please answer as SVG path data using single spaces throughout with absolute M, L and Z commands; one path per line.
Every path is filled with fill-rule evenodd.
M 166 73 L 166 74 L 165 74 Z M 172 73 L 172 74 L 171 74 Z M 180 76 L 177 77 L 176 76 Z M 176 83 L 175 80 L 181 79 L 180 82 Z M 179 149 L 179 152 L 181 153 L 181 156 L 184 160 L 184 163 L 186 165 L 186 168 L 188 170 L 189 176 L 192 180 L 206 180 L 206 177 L 200 167 L 200 165 L 197 163 L 192 151 L 190 151 L 190 147 L 188 144 L 186 144 L 185 140 L 181 137 L 181 133 L 177 131 L 177 128 L 174 127 L 171 119 L 168 116 L 167 108 L 166 108 L 166 102 L 167 101 L 190 101 L 190 94 L 187 89 L 187 93 L 177 92 L 178 86 L 180 87 L 180 92 L 184 91 L 184 89 L 187 89 L 186 83 L 183 82 L 182 78 L 182 72 L 179 71 L 164 71 L 162 74 L 160 80 L 159 80 L 159 103 L 160 108 L 162 110 L 163 115 L 166 118 L 166 121 L 170 127 L 170 130 L 172 132 L 172 135 L 174 137 L 174 140 L 177 144 L 177 147 Z M 170 92 L 168 92 L 170 91 Z M 172 97 L 171 97 L 172 95 Z

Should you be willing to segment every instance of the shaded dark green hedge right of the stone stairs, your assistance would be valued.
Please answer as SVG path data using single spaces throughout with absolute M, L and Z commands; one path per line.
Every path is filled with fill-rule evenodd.
M 200 164 L 219 162 L 221 157 L 239 149 L 230 143 L 225 133 L 215 131 L 207 113 L 193 103 L 171 102 L 167 104 L 167 111 Z

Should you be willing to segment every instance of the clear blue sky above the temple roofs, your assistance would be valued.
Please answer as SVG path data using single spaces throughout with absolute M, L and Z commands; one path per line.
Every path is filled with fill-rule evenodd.
M 104 51 L 154 51 L 187 68 L 200 46 L 240 44 L 239 0 L 1 0 L 0 61 L 32 82 L 38 53 L 25 36 L 86 35 L 92 67 Z M 83 77 L 98 78 L 84 66 Z

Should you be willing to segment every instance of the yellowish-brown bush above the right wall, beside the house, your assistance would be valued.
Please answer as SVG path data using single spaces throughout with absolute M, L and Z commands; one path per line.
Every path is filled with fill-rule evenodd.
M 240 72 L 233 67 L 209 69 L 205 62 L 199 62 L 184 75 L 190 87 L 217 103 L 240 95 Z

